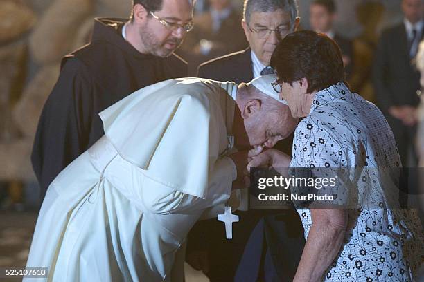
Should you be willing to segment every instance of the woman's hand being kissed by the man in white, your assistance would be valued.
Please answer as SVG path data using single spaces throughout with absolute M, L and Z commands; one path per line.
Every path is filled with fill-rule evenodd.
M 251 162 L 247 164 L 247 170 L 252 167 L 273 167 L 283 176 L 288 176 L 288 167 L 292 158 L 288 154 L 276 149 L 267 149 L 256 156 L 252 156 Z

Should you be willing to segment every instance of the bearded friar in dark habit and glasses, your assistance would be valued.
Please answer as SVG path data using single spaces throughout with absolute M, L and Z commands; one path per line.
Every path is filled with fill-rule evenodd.
M 39 118 L 31 161 L 48 185 L 103 134 L 100 111 L 139 88 L 186 77 L 173 52 L 193 28 L 193 0 L 134 0 L 127 19 L 95 19 L 91 42 L 62 59 Z

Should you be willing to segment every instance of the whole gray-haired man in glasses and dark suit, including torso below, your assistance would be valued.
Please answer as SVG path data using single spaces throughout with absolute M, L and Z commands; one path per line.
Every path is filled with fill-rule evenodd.
M 270 59 L 276 44 L 299 26 L 297 3 L 247 0 L 244 11 L 242 28 L 249 48 L 201 64 L 199 77 L 241 83 L 273 72 Z M 285 140 L 286 153 L 290 153 L 291 142 L 290 137 Z M 297 212 L 290 207 L 272 214 L 260 210 L 235 213 L 240 220 L 233 225 L 231 241 L 224 239 L 224 226 L 216 220 L 195 226 L 188 237 L 188 262 L 193 261 L 193 249 L 202 244 L 211 281 L 292 281 L 304 245 Z M 202 268 L 198 263 L 195 266 Z

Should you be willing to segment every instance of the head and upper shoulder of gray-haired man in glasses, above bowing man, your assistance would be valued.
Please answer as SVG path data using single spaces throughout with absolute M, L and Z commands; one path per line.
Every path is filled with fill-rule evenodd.
M 273 73 L 270 68 L 276 44 L 299 26 L 295 0 L 247 0 L 242 28 L 249 47 L 211 59 L 198 67 L 199 77 L 249 82 L 254 77 Z

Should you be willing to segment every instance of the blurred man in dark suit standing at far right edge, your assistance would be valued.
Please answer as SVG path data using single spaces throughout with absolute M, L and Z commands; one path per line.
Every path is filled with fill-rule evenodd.
M 382 32 L 373 67 L 377 104 L 394 133 L 404 167 L 416 166 L 414 140 L 416 109 L 421 93 L 420 74 L 412 59 L 423 38 L 422 0 L 403 0 L 402 23 Z

